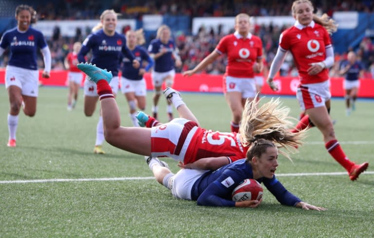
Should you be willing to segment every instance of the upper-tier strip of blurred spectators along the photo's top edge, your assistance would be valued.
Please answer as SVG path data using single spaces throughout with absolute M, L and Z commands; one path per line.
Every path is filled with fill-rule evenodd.
M 114 9 L 125 18 L 136 19 L 141 19 L 144 14 L 232 17 L 247 13 L 250 16 L 290 16 L 292 2 L 293 0 L 39 0 L 36 10 L 46 19 L 97 19 L 105 9 Z M 372 0 L 313 0 L 313 4 L 330 16 L 334 11 L 373 12 L 374 9 Z

